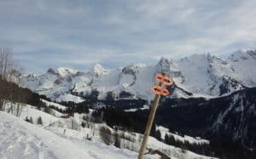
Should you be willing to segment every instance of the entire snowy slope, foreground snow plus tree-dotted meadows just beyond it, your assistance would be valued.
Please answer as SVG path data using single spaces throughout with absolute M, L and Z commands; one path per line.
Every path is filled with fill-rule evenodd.
M 44 100 L 44 103 L 54 105 L 54 103 L 46 100 Z M 10 101 L 5 105 L 6 111 L 11 106 L 14 110 L 17 110 L 16 107 L 20 106 L 20 104 Z M 39 111 L 32 105 L 22 105 L 20 117 L 0 111 L 0 158 L 137 158 L 143 135 L 119 130 L 121 148 L 118 149 L 112 144 L 105 145 L 102 143 L 100 128 L 102 126 L 109 127 L 105 123 L 88 122 L 92 121 L 90 120 L 91 111 L 87 115 L 75 114 L 74 117 L 67 119 Z M 30 123 L 32 121 L 25 122 L 26 116 L 35 124 Z M 36 122 L 39 116 L 42 117 L 42 124 Z M 88 121 L 84 121 L 84 116 Z M 82 122 L 86 125 L 84 128 L 81 126 Z M 168 133 L 166 128 L 159 128 L 161 131 Z M 112 128 L 109 129 L 114 135 L 115 131 Z M 209 141 L 204 139 L 172 135 L 175 135 L 175 139 L 182 142 L 188 140 L 197 145 L 209 144 Z M 85 139 L 86 136 L 90 139 Z M 182 150 L 172 145 L 166 145 L 153 137 L 148 139 L 148 148 L 162 150 L 174 159 L 212 158 L 195 154 L 189 150 Z M 144 158 L 160 158 L 160 156 L 148 154 Z

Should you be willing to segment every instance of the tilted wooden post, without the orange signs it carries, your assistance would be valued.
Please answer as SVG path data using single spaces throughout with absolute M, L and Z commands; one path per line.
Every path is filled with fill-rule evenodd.
M 159 83 L 159 86 L 161 86 L 161 83 Z M 143 158 L 143 154 L 144 154 L 144 150 L 146 149 L 146 145 L 148 143 L 148 136 L 150 134 L 151 128 L 152 128 L 152 123 L 154 121 L 154 115 L 157 109 L 157 105 L 159 104 L 160 101 L 160 94 L 156 94 L 154 97 L 154 102 L 148 117 L 148 122 L 147 122 L 147 126 L 146 126 L 146 130 L 144 133 L 144 137 L 143 137 L 143 143 L 139 152 L 139 156 L 137 157 L 138 159 L 142 159 Z

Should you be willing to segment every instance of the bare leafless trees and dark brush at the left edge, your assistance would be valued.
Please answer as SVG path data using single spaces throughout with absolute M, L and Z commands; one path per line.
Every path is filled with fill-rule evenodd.
M 38 108 L 45 107 L 40 100 L 47 99 L 44 95 L 35 94 L 28 88 L 21 88 L 19 70 L 10 50 L 0 48 L 0 111 L 4 111 L 8 100 L 35 105 Z

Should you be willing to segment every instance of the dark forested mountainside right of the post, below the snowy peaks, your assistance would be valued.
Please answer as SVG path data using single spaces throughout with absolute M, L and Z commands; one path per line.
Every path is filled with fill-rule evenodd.
M 163 98 L 156 122 L 172 132 L 209 139 L 221 158 L 256 157 L 256 88 L 216 99 Z

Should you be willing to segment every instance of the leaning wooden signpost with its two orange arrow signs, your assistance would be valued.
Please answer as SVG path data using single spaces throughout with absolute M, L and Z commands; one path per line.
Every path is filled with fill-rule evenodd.
M 138 159 L 143 158 L 144 150 L 146 149 L 146 145 L 148 142 L 148 136 L 150 134 L 152 123 L 154 121 L 155 112 L 157 109 L 157 105 L 159 104 L 161 95 L 168 95 L 170 92 L 165 88 L 166 86 L 171 86 L 173 84 L 172 77 L 168 77 L 165 74 L 158 74 L 155 76 L 155 80 L 158 81 L 158 85 L 155 85 L 151 88 L 152 92 L 155 94 L 153 105 L 148 117 L 147 126 L 145 129 L 144 137 L 143 137 L 143 143 L 141 146 L 141 149 L 139 151 L 139 155 L 137 156 Z

